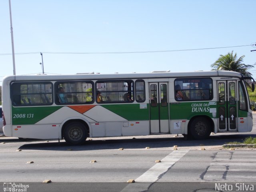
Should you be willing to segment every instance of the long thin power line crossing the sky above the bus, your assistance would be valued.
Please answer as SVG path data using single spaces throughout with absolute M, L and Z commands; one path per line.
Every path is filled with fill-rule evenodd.
M 130 51 L 130 52 L 24 52 L 15 53 L 16 55 L 25 54 L 130 54 L 130 53 L 159 53 L 159 52 L 178 52 L 178 51 L 195 51 L 195 50 L 209 50 L 209 49 L 222 49 L 222 48 L 234 48 L 234 47 L 245 47 L 250 45 L 239 45 L 239 46 L 226 46 L 226 47 L 212 47 L 212 48 L 198 48 L 198 49 L 178 49 L 178 50 L 158 50 L 158 51 Z M 12 53 L 0 53 L 1 55 L 11 55 Z

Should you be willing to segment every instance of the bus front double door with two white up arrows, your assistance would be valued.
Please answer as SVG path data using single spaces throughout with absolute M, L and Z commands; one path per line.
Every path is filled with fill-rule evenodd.
M 237 131 L 236 81 L 217 81 L 218 132 Z

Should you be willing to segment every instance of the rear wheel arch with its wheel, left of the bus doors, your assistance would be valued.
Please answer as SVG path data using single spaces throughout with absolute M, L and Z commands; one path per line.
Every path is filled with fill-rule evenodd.
M 80 119 L 72 119 L 62 126 L 62 138 L 69 144 L 83 144 L 90 135 L 90 128 L 86 122 Z

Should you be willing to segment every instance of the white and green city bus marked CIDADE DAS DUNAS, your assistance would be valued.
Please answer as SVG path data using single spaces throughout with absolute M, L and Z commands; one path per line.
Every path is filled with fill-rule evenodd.
M 230 71 L 7 76 L 3 130 L 70 144 L 87 137 L 250 132 L 245 79 L 253 80 Z

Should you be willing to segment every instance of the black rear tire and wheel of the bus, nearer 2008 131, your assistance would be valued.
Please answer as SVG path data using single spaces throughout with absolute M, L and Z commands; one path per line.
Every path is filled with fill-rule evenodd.
M 80 122 L 71 122 L 64 128 L 64 139 L 72 145 L 81 145 L 87 138 L 87 129 Z

